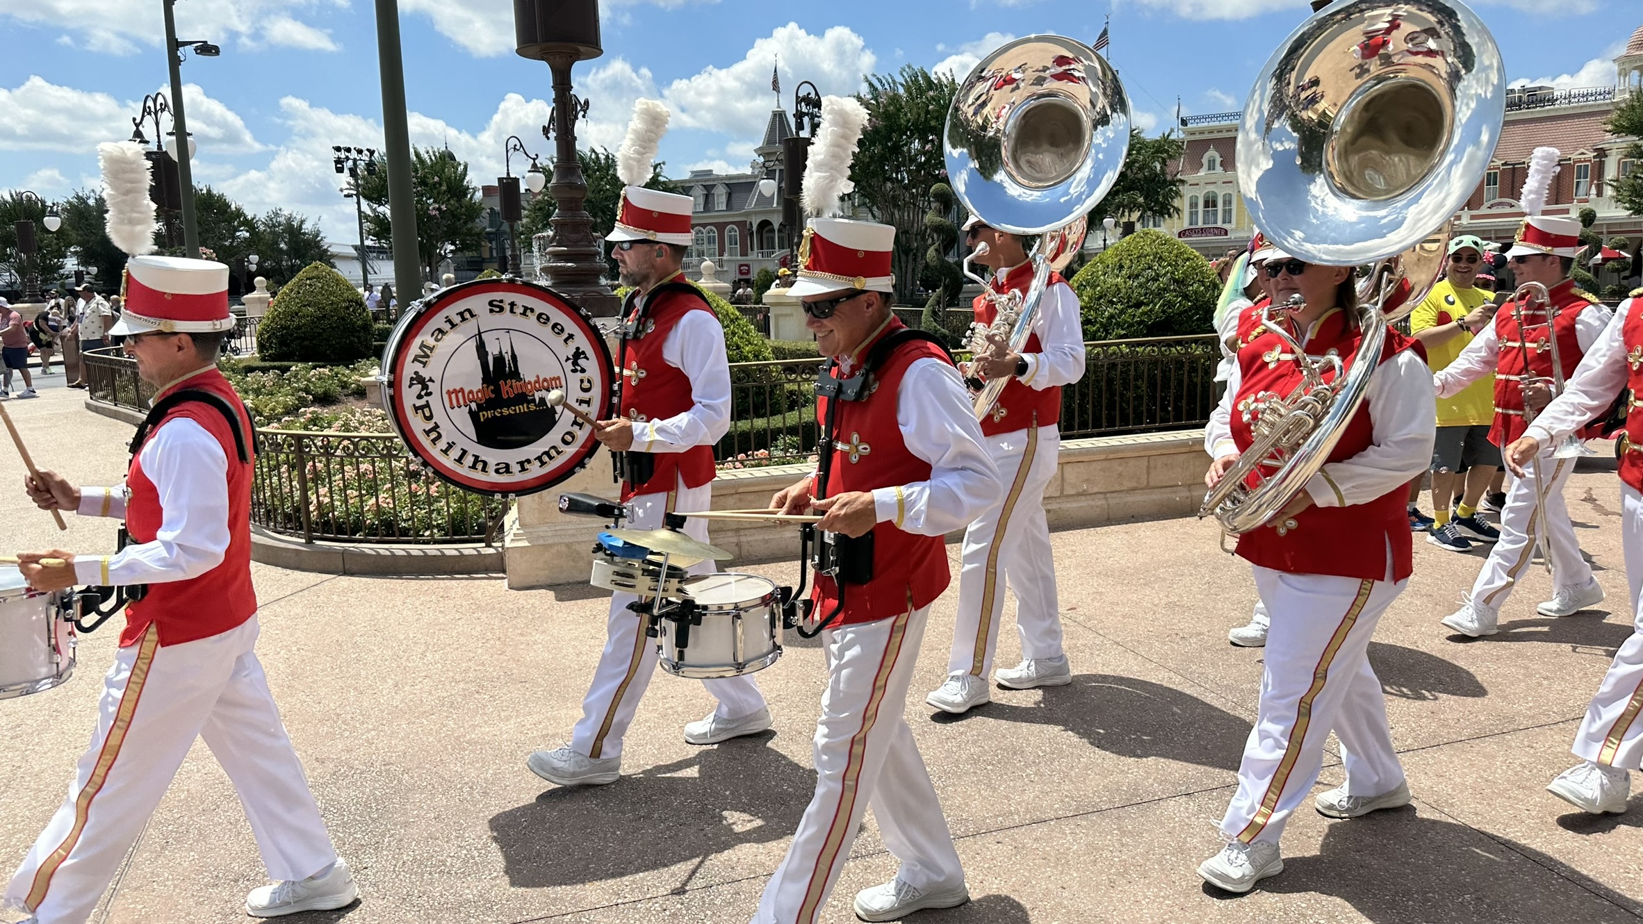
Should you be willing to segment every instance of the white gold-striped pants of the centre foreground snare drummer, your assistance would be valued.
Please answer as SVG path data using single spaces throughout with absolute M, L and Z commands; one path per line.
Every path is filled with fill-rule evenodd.
M 897 873 L 920 890 L 964 881 L 953 835 L 902 717 L 930 607 L 822 634 L 828 661 L 817 722 L 817 793 L 754 924 L 813 924 L 872 803 Z

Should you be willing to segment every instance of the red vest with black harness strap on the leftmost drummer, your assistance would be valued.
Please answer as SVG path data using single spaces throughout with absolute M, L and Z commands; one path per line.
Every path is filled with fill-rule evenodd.
M 251 419 L 245 414 L 245 405 L 228 379 L 222 377 L 217 369 L 207 369 L 156 394 L 154 400 L 184 387 L 219 394 L 237 409 L 246 440 L 245 450 L 250 455 Z M 125 632 L 120 634 L 120 647 L 138 642 L 150 624 L 159 627 L 161 645 L 181 645 L 220 635 L 256 614 L 256 591 L 251 588 L 251 464 L 240 461 L 228 420 L 215 407 L 197 400 L 174 407 L 148 438 L 153 440 L 153 433 L 177 417 L 187 417 L 204 427 L 222 446 L 223 458 L 228 460 L 228 550 L 220 565 L 199 578 L 150 584 L 146 597 L 125 607 Z M 125 476 L 125 486 L 131 492 L 125 504 L 125 527 L 131 533 L 131 542 L 154 542 L 164 512 L 159 509 L 159 491 L 143 474 L 143 466 L 135 455 Z

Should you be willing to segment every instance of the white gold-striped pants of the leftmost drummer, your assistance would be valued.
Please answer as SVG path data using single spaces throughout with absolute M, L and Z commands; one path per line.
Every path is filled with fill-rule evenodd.
M 269 878 L 302 880 L 337 862 L 253 652 L 256 632 L 253 615 L 220 635 L 159 647 L 151 625 L 120 648 L 74 784 L 12 876 L 5 904 L 39 924 L 84 922 L 196 737 L 238 791 Z

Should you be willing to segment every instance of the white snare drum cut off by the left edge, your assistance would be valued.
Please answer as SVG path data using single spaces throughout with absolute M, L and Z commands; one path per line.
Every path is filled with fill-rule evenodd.
M 0 699 L 61 684 L 74 675 L 74 594 L 43 594 L 16 568 L 0 568 Z

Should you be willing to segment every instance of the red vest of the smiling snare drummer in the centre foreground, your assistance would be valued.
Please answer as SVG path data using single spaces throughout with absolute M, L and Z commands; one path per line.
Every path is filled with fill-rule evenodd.
M 872 343 L 902 327 L 899 320 L 892 320 L 879 336 L 863 345 L 854 358 L 864 359 Z M 907 450 L 902 428 L 895 422 L 895 396 L 900 392 L 902 376 L 914 361 L 923 358 L 948 361 L 932 343 L 904 343 L 879 363 L 866 399 L 840 402 L 833 425 L 838 440 L 830 450 L 833 461 L 825 486 L 828 497 L 846 491 L 872 491 L 930 479 L 930 463 Z M 835 376 L 838 376 L 836 368 Z M 823 427 L 826 407 L 828 399 L 818 397 L 817 420 Z M 941 596 L 950 579 L 943 537 L 915 535 L 895 528 L 895 524 L 879 524 L 872 527 L 872 581 L 866 586 L 846 586 L 845 612 L 840 614 L 838 624 L 874 622 L 930 606 Z M 838 606 L 838 588 L 833 579 L 818 574 L 812 599 L 818 619 L 831 614 Z

